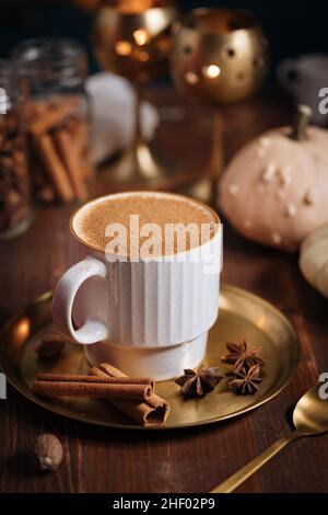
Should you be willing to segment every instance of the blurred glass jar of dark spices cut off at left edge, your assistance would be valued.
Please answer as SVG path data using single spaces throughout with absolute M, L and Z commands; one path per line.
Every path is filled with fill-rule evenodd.
M 11 64 L 0 59 L 0 239 L 31 221 L 23 100 Z

